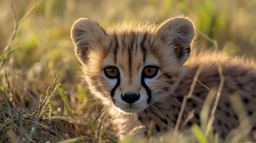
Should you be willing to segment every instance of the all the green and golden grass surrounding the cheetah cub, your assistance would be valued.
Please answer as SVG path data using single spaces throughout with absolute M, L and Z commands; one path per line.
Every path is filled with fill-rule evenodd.
M 256 2 L 252 0 L 13 0 L 0 1 L 0 9 L 0 142 L 120 142 L 111 128 L 103 128 L 102 124 L 108 122 L 105 118 L 98 120 L 101 105 L 94 104 L 96 101 L 79 77 L 70 28 L 74 19 L 81 16 L 107 27 L 124 19 L 158 17 L 162 21 L 185 14 L 194 19 L 199 50 L 218 49 L 231 55 L 256 57 Z M 17 19 L 21 20 L 16 22 Z M 202 84 L 195 78 L 193 83 L 196 82 Z M 209 89 L 200 115 L 202 127 L 193 125 L 184 132 L 175 128 L 157 138 L 127 136 L 121 142 L 250 140 L 246 134 L 255 124 L 256 115 L 244 115 L 237 93 L 233 93 L 232 104 L 241 127 L 225 141 L 213 134 L 214 110 L 208 105 L 213 103 L 215 94 L 220 96 L 218 93 L 218 89 Z

